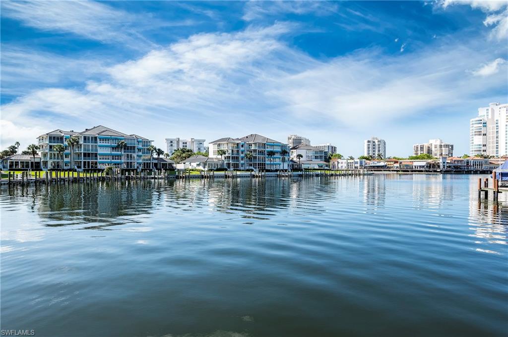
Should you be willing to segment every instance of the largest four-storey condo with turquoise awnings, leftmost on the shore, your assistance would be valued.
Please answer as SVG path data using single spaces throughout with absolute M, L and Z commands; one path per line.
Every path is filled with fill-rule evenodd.
M 78 143 L 71 148 L 67 140 L 76 137 Z M 125 142 L 124 147 L 118 143 Z M 148 146 L 152 140 L 136 134 L 125 134 L 99 125 L 82 132 L 63 131 L 60 129 L 38 137 L 41 167 L 51 169 L 104 169 L 108 166 L 125 169 L 149 169 L 150 152 Z M 63 158 L 54 151 L 54 146 L 65 147 Z M 72 152 L 72 154 L 71 154 Z

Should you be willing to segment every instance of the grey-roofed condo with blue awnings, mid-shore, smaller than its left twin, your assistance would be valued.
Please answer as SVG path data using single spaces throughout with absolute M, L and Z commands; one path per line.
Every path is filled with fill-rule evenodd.
M 219 150 L 226 151 L 226 154 L 220 156 Z M 208 156 L 220 158 L 228 169 L 278 170 L 289 167 L 288 144 L 258 134 L 214 140 L 209 144 Z

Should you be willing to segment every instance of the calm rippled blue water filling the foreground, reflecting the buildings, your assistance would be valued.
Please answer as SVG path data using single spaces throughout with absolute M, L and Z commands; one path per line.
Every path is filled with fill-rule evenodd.
M 478 176 L 2 188 L 2 329 L 504 336 L 507 196 Z

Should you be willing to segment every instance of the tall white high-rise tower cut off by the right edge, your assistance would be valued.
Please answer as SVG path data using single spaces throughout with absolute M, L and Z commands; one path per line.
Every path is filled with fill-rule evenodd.
M 490 103 L 478 109 L 478 117 L 469 123 L 469 154 L 508 154 L 508 104 Z

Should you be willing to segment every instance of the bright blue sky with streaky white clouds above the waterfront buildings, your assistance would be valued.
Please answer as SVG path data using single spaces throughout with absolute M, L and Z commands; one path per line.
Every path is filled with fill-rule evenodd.
M 1 4 L 1 144 L 105 125 L 154 140 L 298 134 L 387 156 L 508 102 L 508 2 Z

